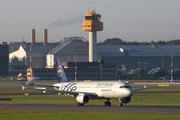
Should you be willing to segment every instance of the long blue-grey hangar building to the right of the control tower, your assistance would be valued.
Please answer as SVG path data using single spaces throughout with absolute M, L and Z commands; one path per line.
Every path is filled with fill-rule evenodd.
M 127 72 L 142 68 L 149 72 L 159 68 L 170 71 L 171 55 L 173 69 L 180 68 L 180 45 L 98 45 L 103 51 L 102 60 L 117 63 L 118 68 L 124 66 Z

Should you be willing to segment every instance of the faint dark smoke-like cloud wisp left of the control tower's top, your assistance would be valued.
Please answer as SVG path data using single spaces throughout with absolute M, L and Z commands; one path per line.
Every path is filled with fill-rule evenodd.
M 50 27 L 62 27 L 62 26 L 68 26 L 68 25 L 80 25 L 83 22 L 84 15 L 80 13 L 77 16 L 72 16 L 71 14 L 68 16 L 67 19 L 63 20 L 62 18 L 59 18 L 57 21 L 51 23 Z

